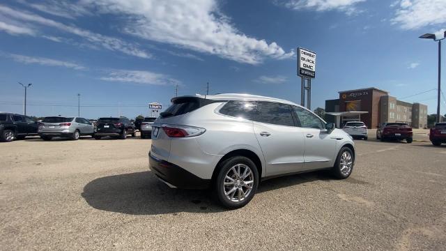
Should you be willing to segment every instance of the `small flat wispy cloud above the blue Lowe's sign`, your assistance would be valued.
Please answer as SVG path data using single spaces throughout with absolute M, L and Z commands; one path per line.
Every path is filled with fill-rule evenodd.
M 107 76 L 100 77 L 104 81 L 130 82 L 134 84 L 176 85 L 177 79 L 168 75 L 153 73 L 146 70 L 108 70 Z

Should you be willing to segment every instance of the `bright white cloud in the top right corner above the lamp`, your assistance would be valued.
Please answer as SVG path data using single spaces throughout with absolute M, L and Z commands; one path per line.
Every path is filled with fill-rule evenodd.
M 392 19 L 402 29 L 419 29 L 424 26 L 446 23 L 445 0 L 401 0 Z

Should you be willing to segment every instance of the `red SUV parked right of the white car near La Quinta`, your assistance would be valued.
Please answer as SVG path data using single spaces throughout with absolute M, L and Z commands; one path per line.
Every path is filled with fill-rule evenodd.
M 382 142 L 387 139 L 406 139 L 406 142 L 412 143 L 412 128 L 407 123 L 383 123 L 376 129 L 376 139 Z

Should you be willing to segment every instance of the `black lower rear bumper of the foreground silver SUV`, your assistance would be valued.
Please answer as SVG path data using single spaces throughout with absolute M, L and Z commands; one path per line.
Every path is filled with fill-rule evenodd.
M 184 189 L 207 189 L 210 179 L 199 178 L 177 165 L 160 160 L 148 153 L 149 167 L 152 172 L 167 185 Z

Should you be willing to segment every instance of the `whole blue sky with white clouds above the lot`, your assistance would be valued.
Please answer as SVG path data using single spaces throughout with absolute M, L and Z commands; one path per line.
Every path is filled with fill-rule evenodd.
M 17 82 L 33 84 L 36 116 L 77 114 L 77 93 L 86 118 L 147 115 L 176 85 L 194 95 L 206 82 L 299 103 L 295 48 L 306 47 L 313 109 L 375 86 L 435 113 L 438 47 L 418 36 L 445 28 L 445 0 L 2 1 L 0 111 L 22 113 Z

